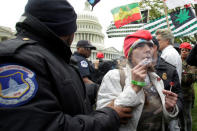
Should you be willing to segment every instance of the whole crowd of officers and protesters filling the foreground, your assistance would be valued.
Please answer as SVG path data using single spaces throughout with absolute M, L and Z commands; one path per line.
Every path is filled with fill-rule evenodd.
M 197 47 L 138 30 L 124 56 L 88 58 L 66 0 L 28 0 L 16 38 L 0 43 L 1 131 L 191 131 Z

